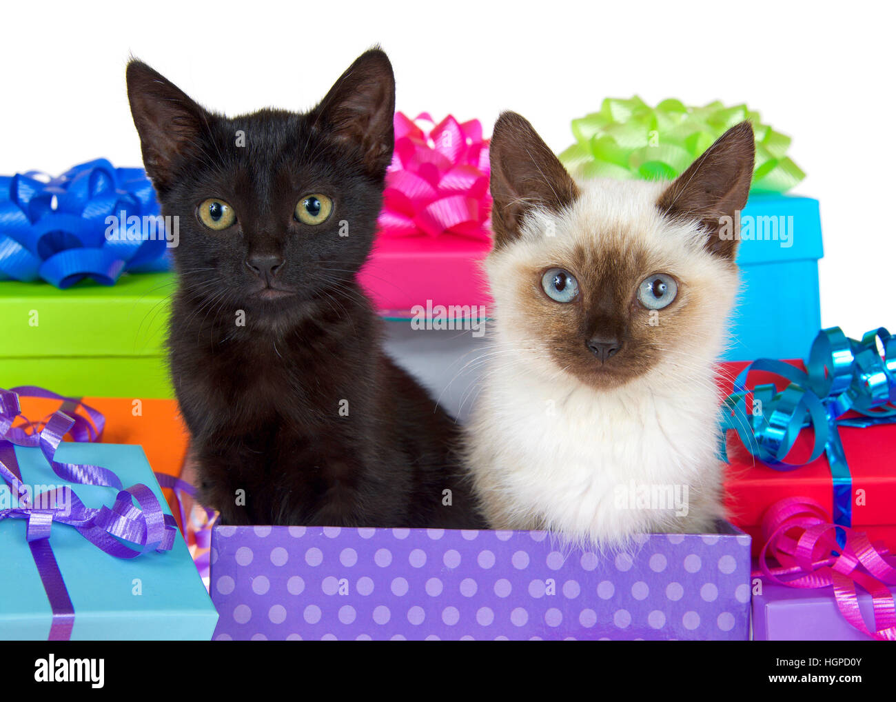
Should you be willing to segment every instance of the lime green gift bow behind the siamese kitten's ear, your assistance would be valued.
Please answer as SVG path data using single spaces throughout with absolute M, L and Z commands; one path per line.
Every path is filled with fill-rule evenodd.
M 689 108 L 663 100 L 607 98 L 599 112 L 573 119 L 576 143 L 560 160 L 580 178 L 671 179 L 684 171 L 728 128 L 749 119 L 756 136 L 753 192 L 784 193 L 806 174 L 785 154 L 790 138 L 763 125 L 745 105 L 711 102 Z

